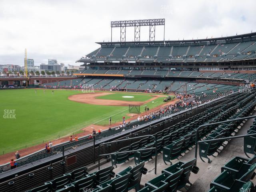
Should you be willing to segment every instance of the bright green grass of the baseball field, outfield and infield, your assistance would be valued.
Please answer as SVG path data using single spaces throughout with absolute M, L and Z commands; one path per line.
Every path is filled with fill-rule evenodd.
M 120 122 L 128 113 L 128 106 L 90 105 L 68 100 L 68 96 L 80 93 L 80 90 L 54 90 L 54 94 L 52 90 L 44 93 L 42 89 L 37 93 L 35 89 L 1 90 L 0 154 L 54 140 L 90 124 L 107 125 L 110 116 L 112 123 Z M 132 93 L 111 94 L 111 99 L 123 94 Z M 148 100 L 151 97 L 138 94 L 134 98 Z M 150 109 L 161 104 L 163 98 L 147 103 Z M 15 118 L 4 118 L 5 110 L 15 110 Z

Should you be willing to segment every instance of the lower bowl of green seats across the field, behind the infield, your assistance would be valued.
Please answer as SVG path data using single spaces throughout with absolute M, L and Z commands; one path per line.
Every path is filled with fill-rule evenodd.
M 62 84 L 66 84 L 70 82 L 70 80 L 62 81 Z M 72 80 L 75 82 L 75 80 Z M 196 83 L 196 82 L 187 82 L 180 80 L 134 80 L 134 79 L 101 79 L 101 78 L 84 78 L 83 80 L 76 80 L 80 84 L 76 84 L 76 86 L 80 86 L 83 89 L 97 89 L 97 90 L 110 90 L 110 89 L 127 89 L 127 90 L 151 90 L 151 91 L 169 91 L 169 92 L 177 92 L 184 93 L 184 85 L 186 85 L 185 89 L 189 94 L 201 94 L 202 92 L 205 94 L 211 94 L 212 92 L 226 92 L 230 90 L 237 91 L 239 89 L 238 86 L 230 86 L 223 84 L 206 84 L 206 83 Z M 50 86 L 50 84 L 44 84 L 46 86 Z M 55 86 L 53 86 L 55 87 Z M 59 87 L 59 86 L 56 86 Z M 62 86 L 60 86 L 62 88 Z

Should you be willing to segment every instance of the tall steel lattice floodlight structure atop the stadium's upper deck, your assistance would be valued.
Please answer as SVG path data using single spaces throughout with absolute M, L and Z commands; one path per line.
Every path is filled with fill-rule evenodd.
M 149 41 L 155 41 L 156 25 L 163 25 L 165 31 L 165 19 L 141 19 L 141 20 L 125 20 L 111 21 L 111 42 L 112 28 L 120 27 L 120 42 L 126 42 L 126 27 L 134 27 L 134 42 L 140 41 L 140 26 L 149 26 Z

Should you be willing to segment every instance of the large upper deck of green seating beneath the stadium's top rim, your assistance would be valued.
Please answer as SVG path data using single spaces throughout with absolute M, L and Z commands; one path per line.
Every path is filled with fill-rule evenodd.
M 138 61 L 219 61 L 255 58 L 256 42 L 236 42 L 204 46 L 156 46 L 99 48 L 85 57 L 87 60 Z

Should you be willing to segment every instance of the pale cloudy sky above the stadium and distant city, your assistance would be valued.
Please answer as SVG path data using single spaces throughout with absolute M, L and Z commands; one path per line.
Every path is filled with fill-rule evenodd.
M 24 65 L 24 49 L 36 65 L 48 58 L 75 64 L 110 41 L 110 21 L 165 18 L 165 39 L 231 36 L 256 31 L 255 0 L 1 0 L 0 64 Z M 141 40 L 148 40 L 148 26 Z M 113 41 L 120 39 L 113 28 Z M 133 40 L 134 28 L 126 30 Z M 163 40 L 163 27 L 156 27 Z M 78 65 L 77 63 L 76 65 Z

